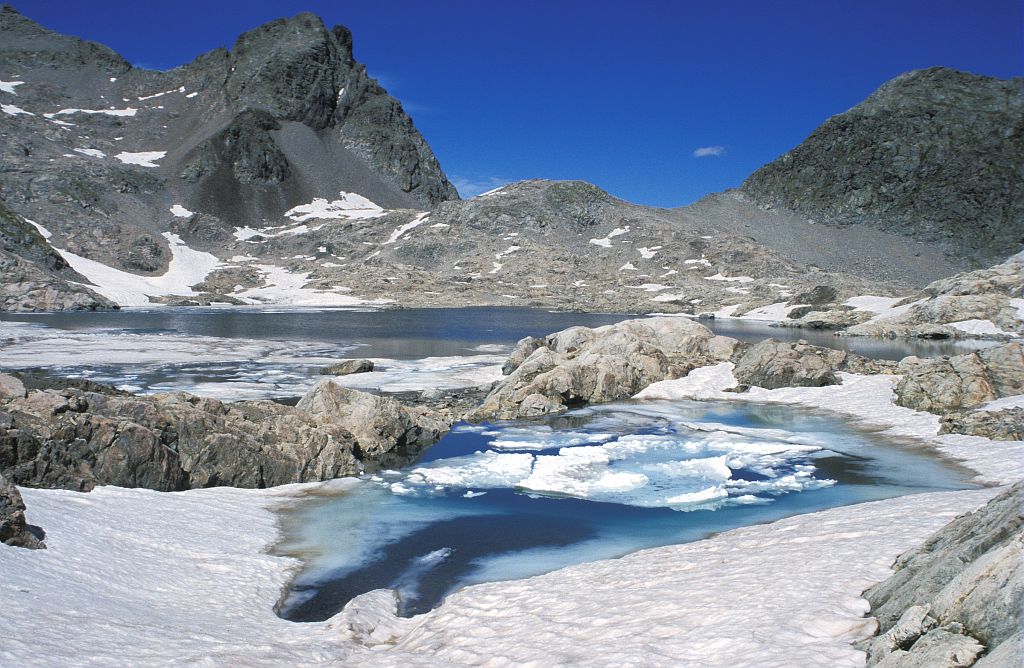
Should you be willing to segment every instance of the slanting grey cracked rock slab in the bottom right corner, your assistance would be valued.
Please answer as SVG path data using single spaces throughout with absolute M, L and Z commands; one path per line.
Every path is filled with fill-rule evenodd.
M 880 624 L 864 648 L 869 666 L 1020 665 L 1022 508 L 1018 483 L 902 554 L 864 592 Z

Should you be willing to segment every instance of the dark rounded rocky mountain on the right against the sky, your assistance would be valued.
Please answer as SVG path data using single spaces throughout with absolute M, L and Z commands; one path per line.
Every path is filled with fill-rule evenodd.
M 864 223 L 991 264 L 1024 244 L 1024 79 L 901 75 L 742 190 L 820 222 Z

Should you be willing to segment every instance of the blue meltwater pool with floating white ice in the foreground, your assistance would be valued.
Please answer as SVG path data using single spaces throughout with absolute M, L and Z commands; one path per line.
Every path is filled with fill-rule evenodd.
M 915 492 L 967 489 L 929 453 L 806 410 L 628 402 L 462 424 L 399 471 L 285 516 L 305 568 L 281 614 L 323 620 L 378 588 L 399 612 L 712 533 Z

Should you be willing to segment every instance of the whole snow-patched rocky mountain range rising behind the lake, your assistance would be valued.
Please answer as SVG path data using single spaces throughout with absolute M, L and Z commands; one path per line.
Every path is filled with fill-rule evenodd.
M 985 252 L 1017 243 L 1019 197 L 1007 174 L 1020 171 L 1019 134 L 998 130 L 1016 127 L 1015 81 L 911 73 L 848 113 L 870 112 L 878 127 L 854 124 L 856 137 L 841 141 L 849 124 L 837 117 L 742 190 L 682 209 L 579 181 L 521 181 L 461 201 L 400 105 L 353 59 L 350 34 L 311 14 L 170 72 L 133 68 L 10 8 L 0 10 L 0 191 L 121 305 L 528 305 L 771 321 L 856 310 L 844 304 L 896 300 L 971 268 L 966 254 L 944 251 L 975 242 L 952 233 L 946 247 L 923 242 L 932 237 L 922 231 L 938 228 L 928 189 L 945 184 L 942 211 L 1002 207 L 999 220 L 979 218 L 995 232 L 978 238 L 1001 240 Z M 998 90 L 1006 110 L 992 101 Z M 965 124 L 1002 132 L 979 144 L 998 144 L 985 150 L 988 171 L 936 166 L 967 141 L 950 130 Z M 952 143 L 899 171 L 902 154 L 877 151 L 874 133 L 879 145 L 924 145 L 931 134 Z M 892 181 L 902 199 L 886 205 L 885 224 L 878 207 L 855 220 L 823 215 L 852 211 L 849 194 L 801 161 L 846 165 L 855 184 Z M 833 190 L 781 195 L 819 180 Z M 897 218 L 908 222 L 889 224 Z M 829 221 L 865 224 L 819 224 Z M 33 299 L 22 302 L 4 307 Z M 867 314 L 844 314 L 839 326 Z

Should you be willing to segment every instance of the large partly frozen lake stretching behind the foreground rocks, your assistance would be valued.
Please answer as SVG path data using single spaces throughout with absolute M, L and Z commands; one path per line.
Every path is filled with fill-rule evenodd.
M 635 317 L 531 308 L 165 307 L 0 314 L 0 369 L 40 368 L 133 392 L 184 390 L 237 401 L 301 395 L 318 379 L 321 368 L 358 357 L 375 359 L 391 376 L 346 380 L 353 386 L 385 391 L 472 386 L 494 380 L 493 369 L 524 336 Z M 702 324 L 745 340 L 804 338 L 891 360 L 984 345 L 838 337 L 736 320 Z

